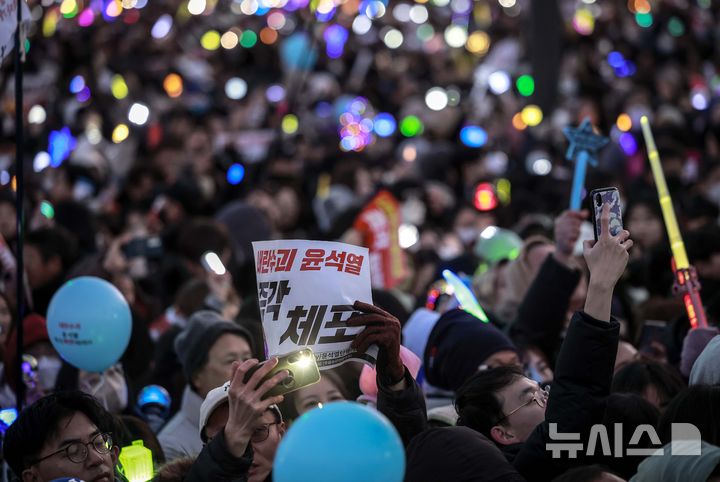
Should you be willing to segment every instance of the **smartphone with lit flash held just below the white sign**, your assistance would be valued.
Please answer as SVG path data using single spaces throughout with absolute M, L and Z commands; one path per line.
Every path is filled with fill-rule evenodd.
M 317 366 L 317 360 L 315 360 L 315 354 L 312 349 L 302 348 L 286 355 L 280 355 L 277 358 L 278 364 L 262 379 L 259 385 L 283 370 L 287 370 L 289 375 L 267 392 L 263 398 L 285 395 L 286 393 L 309 387 L 320 381 L 320 369 Z M 259 370 L 265 363 L 267 363 L 267 361 L 256 365 L 245 374 L 245 383 L 247 383 L 253 373 Z

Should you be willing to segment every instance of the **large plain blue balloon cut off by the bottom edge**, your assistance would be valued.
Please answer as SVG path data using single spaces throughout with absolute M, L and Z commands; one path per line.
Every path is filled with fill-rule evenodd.
M 275 482 L 401 482 L 405 451 L 395 427 L 377 410 L 336 402 L 302 415 L 283 437 Z

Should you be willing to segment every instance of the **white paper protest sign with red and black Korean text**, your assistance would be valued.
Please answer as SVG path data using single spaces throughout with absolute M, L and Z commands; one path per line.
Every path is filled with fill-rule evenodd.
M 327 241 L 253 243 L 260 316 L 268 355 L 310 347 L 318 366 L 375 364 L 377 347 L 350 347 L 363 327 L 348 328 L 355 300 L 372 303 L 367 248 Z

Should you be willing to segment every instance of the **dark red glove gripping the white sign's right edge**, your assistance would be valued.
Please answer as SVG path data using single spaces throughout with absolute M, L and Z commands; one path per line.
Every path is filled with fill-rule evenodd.
M 399 383 L 405 376 L 405 366 L 400 359 L 400 321 L 387 311 L 362 301 L 356 301 L 353 308 L 364 314 L 351 316 L 348 326 L 365 326 L 365 329 L 358 333 L 352 347 L 364 353 L 370 345 L 377 345 L 380 348 L 378 375 L 386 385 Z

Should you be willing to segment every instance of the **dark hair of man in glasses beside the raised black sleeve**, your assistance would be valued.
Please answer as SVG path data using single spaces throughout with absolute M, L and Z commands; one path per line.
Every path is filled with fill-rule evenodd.
M 503 418 L 497 392 L 524 377 L 520 368 L 502 366 L 478 372 L 467 379 L 455 395 L 458 426 L 470 427 L 490 438 L 490 429 Z

